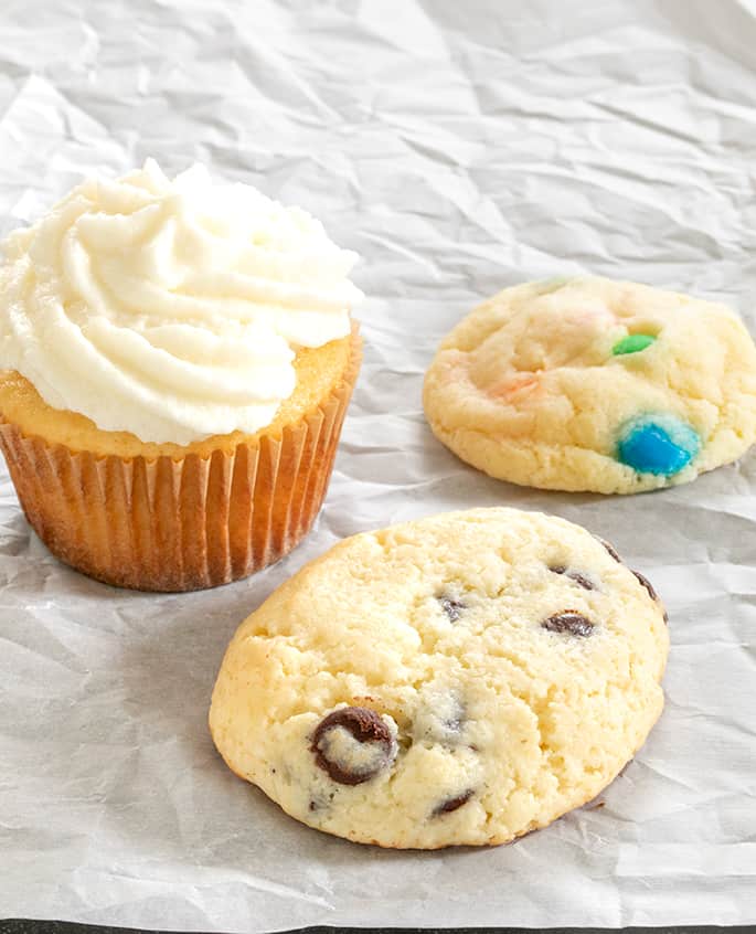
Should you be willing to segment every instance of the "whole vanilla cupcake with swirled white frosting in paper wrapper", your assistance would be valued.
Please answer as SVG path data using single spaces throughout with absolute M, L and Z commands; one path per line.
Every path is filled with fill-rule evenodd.
M 0 445 L 53 554 L 189 591 L 289 552 L 359 370 L 355 254 L 297 208 L 152 160 L 2 247 Z

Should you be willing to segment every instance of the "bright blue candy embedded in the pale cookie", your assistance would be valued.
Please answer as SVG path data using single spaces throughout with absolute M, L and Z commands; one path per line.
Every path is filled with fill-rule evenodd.
M 672 477 L 701 450 L 698 432 L 674 415 L 643 415 L 626 424 L 617 443 L 617 460 L 639 474 Z

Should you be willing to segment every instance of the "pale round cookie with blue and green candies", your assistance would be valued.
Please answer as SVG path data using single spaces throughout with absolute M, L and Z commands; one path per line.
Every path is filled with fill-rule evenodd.
M 756 348 L 723 305 L 594 277 L 529 283 L 445 338 L 424 405 L 436 436 L 492 477 L 641 492 L 756 441 Z

